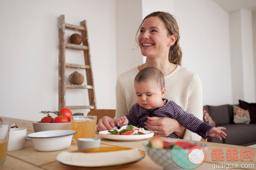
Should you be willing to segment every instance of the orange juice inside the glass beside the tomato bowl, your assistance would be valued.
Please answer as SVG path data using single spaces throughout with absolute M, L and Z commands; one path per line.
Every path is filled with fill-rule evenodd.
M 96 120 L 81 119 L 72 120 L 71 129 L 77 131 L 73 135 L 73 142 L 76 143 L 78 138 L 94 138 L 95 136 Z

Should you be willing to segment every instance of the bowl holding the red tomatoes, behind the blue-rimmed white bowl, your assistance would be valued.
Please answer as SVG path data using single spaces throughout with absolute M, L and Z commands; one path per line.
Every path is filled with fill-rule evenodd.
M 34 132 L 46 131 L 46 130 L 71 130 L 71 123 L 40 123 L 32 122 Z

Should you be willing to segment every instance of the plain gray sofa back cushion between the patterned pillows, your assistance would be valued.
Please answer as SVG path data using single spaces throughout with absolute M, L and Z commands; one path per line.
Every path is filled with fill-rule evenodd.
M 217 125 L 226 125 L 229 124 L 229 110 L 228 105 L 221 105 L 221 106 L 207 106 L 208 113 L 214 120 L 216 126 Z

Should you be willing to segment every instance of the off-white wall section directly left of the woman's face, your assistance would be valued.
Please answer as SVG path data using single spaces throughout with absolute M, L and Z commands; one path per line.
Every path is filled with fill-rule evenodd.
M 116 1 L 117 76 L 143 63 L 135 35 L 142 18 L 141 0 Z

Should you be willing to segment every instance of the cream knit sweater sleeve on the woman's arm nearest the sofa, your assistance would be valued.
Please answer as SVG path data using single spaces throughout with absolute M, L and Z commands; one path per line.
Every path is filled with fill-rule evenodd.
M 202 84 L 200 77 L 197 74 L 193 75 L 190 87 L 189 87 L 189 98 L 186 112 L 191 113 L 193 116 L 202 120 Z M 196 133 L 186 129 L 184 138 L 186 140 L 200 141 L 201 137 Z

